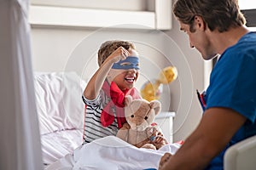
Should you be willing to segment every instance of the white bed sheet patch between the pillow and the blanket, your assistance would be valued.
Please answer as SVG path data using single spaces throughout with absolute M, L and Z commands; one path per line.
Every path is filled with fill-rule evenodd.
M 44 165 L 52 164 L 82 144 L 83 129 L 70 129 L 41 135 Z

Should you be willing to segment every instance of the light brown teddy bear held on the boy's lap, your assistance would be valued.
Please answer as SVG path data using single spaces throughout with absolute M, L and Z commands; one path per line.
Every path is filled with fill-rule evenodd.
M 127 122 L 119 129 L 116 136 L 138 148 L 158 150 L 162 145 L 167 144 L 160 133 L 160 128 L 152 125 L 160 109 L 158 100 L 148 102 L 146 99 L 132 99 L 130 95 L 126 96 L 125 119 Z

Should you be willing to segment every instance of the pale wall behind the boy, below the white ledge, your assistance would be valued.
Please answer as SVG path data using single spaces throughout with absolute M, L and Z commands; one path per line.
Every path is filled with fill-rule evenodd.
M 171 8 L 171 7 L 170 7 Z M 189 48 L 186 35 L 172 20 L 171 31 L 32 27 L 32 62 L 34 71 L 76 71 L 83 79 L 96 71 L 96 52 L 109 39 L 135 42 L 141 54 L 140 88 L 158 77 L 160 69 L 177 66 L 179 77 L 164 86 L 160 101 L 163 111 L 176 111 L 174 141 L 185 139 L 201 118 L 195 89 L 203 89 L 204 62 Z

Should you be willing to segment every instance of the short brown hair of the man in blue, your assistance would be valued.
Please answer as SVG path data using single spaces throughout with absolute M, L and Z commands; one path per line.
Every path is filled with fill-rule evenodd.
M 177 20 L 189 25 L 194 32 L 195 16 L 201 16 L 210 31 L 228 31 L 230 27 L 246 24 L 237 0 L 177 0 L 173 5 L 173 13 Z

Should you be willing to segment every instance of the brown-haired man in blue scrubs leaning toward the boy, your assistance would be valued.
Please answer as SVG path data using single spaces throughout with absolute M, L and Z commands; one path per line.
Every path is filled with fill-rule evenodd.
M 244 26 L 237 0 L 177 0 L 173 13 L 191 48 L 220 58 L 201 98 L 201 122 L 159 169 L 223 169 L 225 150 L 256 134 L 256 34 Z

